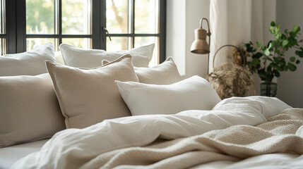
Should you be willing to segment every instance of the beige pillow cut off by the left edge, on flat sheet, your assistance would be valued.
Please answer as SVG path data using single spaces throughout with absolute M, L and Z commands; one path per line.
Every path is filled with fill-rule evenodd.
M 0 147 L 52 137 L 65 129 L 47 73 L 0 77 Z

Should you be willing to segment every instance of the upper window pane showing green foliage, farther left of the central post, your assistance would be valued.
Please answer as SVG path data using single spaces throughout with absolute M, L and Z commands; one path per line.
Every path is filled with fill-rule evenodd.
M 54 0 L 26 0 L 26 33 L 54 34 Z

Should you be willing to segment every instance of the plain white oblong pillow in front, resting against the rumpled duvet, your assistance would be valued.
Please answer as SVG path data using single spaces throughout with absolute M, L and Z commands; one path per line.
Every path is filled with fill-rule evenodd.
M 221 101 L 208 81 L 197 75 L 169 85 L 115 82 L 132 115 L 211 110 Z

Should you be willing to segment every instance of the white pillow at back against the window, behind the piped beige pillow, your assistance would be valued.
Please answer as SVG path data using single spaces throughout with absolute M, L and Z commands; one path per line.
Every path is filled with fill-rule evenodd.
M 114 61 L 124 54 L 133 56 L 133 65 L 138 67 L 148 67 L 150 59 L 153 57 L 155 44 L 141 46 L 129 51 L 104 51 L 99 49 L 81 49 L 69 44 L 61 44 L 59 49 L 66 65 L 76 68 L 95 68 L 102 65 L 102 60 Z

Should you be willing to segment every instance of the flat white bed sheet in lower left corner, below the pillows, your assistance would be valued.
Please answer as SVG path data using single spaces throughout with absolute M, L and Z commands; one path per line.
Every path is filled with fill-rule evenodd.
M 11 168 L 11 165 L 28 154 L 40 151 L 45 142 L 49 139 L 42 139 L 36 142 L 17 144 L 0 149 L 0 169 Z

